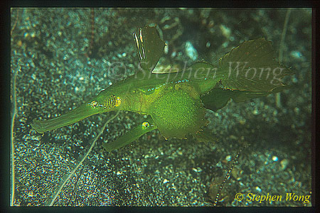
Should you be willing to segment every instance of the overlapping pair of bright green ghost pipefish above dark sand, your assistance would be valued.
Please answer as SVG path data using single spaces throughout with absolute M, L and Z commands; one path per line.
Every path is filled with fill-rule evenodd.
M 148 118 L 115 141 L 103 143 L 107 151 L 132 143 L 154 129 L 166 139 L 196 136 L 207 125 L 206 109 L 221 109 L 230 99 L 244 102 L 280 92 L 286 88 L 282 78 L 293 75 L 274 59 L 272 44 L 265 38 L 241 43 L 216 65 L 198 61 L 179 72 L 154 72 L 166 44 L 156 27 L 139 28 L 133 35 L 140 62 L 135 75 L 112 84 L 67 114 L 47 121 L 33 119 L 32 128 L 44 133 L 93 114 L 122 110 Z

